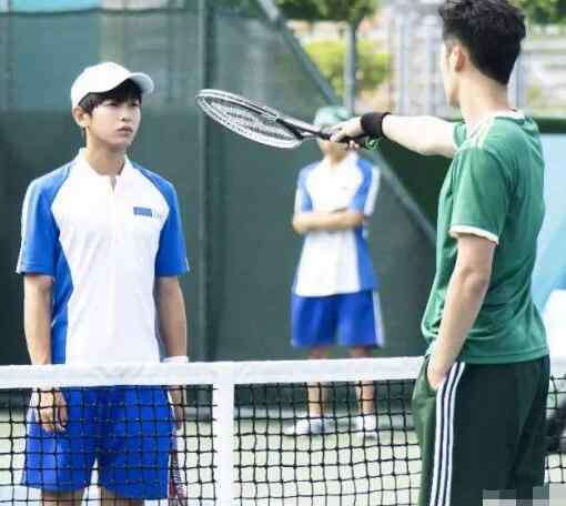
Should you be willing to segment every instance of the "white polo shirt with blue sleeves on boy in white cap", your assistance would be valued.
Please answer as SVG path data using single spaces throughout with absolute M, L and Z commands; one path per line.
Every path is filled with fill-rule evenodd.
M 81 150 L 33 181 L 17 272 L 50 275 L 52 362 L 159 362 L 155 276 L 188 271 L 175 190 L 129 160 L 112 189 Z

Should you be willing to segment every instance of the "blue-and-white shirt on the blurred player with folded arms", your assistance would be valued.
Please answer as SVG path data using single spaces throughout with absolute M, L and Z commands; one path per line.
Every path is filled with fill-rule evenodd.
M 370 216 L 380 188 L 380 173 L 350 153 L 337 166 L 325 161 L 299 174 L 295 213 L 355 210 Z M 313 231 L 304 237 L 293 292 L 326 296 L 376 290 L 365 224 L 355 230 Z

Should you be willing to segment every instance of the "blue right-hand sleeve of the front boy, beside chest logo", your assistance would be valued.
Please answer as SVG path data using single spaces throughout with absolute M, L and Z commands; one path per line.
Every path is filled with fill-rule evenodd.
M 155 275 L 158 277 L 178 276 L 189 271 L 183 224 L 174 188 L 168 185 L 162 191 L 169 204 L 169 214 L 161 229 L 159 250 L 155 257 Z

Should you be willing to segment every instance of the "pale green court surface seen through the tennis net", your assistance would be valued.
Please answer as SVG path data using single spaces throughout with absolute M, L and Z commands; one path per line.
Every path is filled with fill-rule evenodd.
M 416 505 L 420 461 L 413 431 L 380 419 L 376 437 L 361 437 L 338 425 L 325 436 L 285 436 L 286 423 L 271 417 L 240 418 L 234 447 L 236 505 L 397 506 Z M 388 425 L 388 426 L 387 426 Z M 180 465 L 189 504 L 213 505 L 213 425 L 190 421 L 179 432 Z M 0 415 L 0 503 L 39 504 L 36 490 L 19 486 L 24 446 L 23 412 Z M 548 457 L 552 483 L 564 480 L 563 455 Z M 95 482 L 95 470 L 93 473 Z M 98 492 L 92 486 L 85 504 Z M 146 502 L 146 504 L 165 502 Z

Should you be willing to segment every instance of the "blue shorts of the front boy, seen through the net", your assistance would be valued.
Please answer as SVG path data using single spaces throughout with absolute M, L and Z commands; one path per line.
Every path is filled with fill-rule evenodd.
M 62 388 L 64 432 L 48 433 L 28 415 L 22 485 L 72 492 L 98 484 L 123 498 L 168 496 L 174 431 L 166 391 L 154 386 Z

